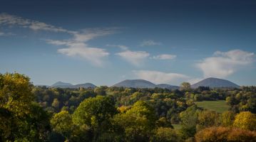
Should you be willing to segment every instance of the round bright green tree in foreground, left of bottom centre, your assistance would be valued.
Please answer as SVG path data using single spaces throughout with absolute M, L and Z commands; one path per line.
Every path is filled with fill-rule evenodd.
M 110 119 L 117 114 L 115 102 L 111 97 L 98 96 L 85 99 L 73 113 L 76 125 L 86 125 L 93 133 L 93 141 L 110 128 Z

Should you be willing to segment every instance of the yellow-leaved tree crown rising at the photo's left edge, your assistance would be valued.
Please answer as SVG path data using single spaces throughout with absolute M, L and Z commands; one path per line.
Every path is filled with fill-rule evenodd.
M 0 76 L 0 107 L 8 109 L 16 116 L 24 116 L 34 100 L 31 93 L 33 84 L 29 77 L 19 73 Z

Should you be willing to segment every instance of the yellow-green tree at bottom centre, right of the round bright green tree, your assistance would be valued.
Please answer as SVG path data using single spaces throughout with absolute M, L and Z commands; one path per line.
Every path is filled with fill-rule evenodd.
M 116 127 L 121 127 L 126 141 L 149 141 L 155 129 L 155 111 L 145 102 L 138 101 L 123 114 L 117 114 L 114 119 Z

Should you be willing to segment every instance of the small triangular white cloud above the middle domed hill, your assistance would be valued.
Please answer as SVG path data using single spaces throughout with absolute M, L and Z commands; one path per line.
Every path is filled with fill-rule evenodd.
M 135 66 L 139 66 L 143 63 L 143 61 L 148 58 L 150 55 L 149 53 L 145 51 L 131 51 L 131 50 L 125 50 L 121 53 L 116 53 L 116 55 L 121 56 L 124 60 L 130 62 L 131 64 Z

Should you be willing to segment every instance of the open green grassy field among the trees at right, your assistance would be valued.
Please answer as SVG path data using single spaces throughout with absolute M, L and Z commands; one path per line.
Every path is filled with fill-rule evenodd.
M 198 107 L 203 107 L 204 109 L 209 109 L 213 111 L 217 111 L 222 113 L 223 111 L 228 110 L 228 105 L 224 100 L 219 101 L 202 101 L 202 102 L 195 102 Z

